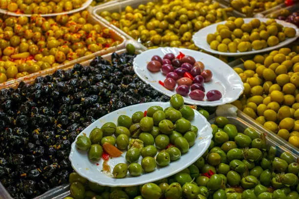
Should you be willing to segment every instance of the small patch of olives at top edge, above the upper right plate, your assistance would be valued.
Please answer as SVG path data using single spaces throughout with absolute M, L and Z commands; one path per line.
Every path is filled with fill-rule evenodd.
M 231 0 L 231 6 L 247 17 L 283 3 L 283 0 Z

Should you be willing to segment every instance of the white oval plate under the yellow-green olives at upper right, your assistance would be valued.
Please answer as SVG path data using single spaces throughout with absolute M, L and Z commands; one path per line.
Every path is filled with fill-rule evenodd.
M 244 18 L 244 22 L 245 23 L 249 23 L 253 19 L 258 19 L 261 22 L 266 22 L 267 20 L 269 20 L 267 18 Z M 209 25 L 209 26 L 207 26 L 205 28 L 200 29 L 198 32 L 196 32 L 193 35 L 192 40 L 193 40 L 194 44 L 198 48 L 201 48 L 203 50 L 206 50 L 206 51 L 208 51 L 210 53 L 214 53 L 214 54 L 217 54 L 217 55 L 224 55 L 224 56 L 244 56 L 244 55 L 252 55 L 252 54 L 267 52 L 267 51 L 275 50 L 277 48 L 285 46 L 285 45 L 287 45 L 289 43 L 292 43 L 293 41 L 295 41 L 299 37 L 299 29 L 298 29 L 298 27 L 296 25 L 294 25 L 293 23 L 288 23 L 288 22 L 283 21 L 283 20 L 276 20 L 276 21 L 277 21 L 277 23 L 283 25 L 284 27 L 295 28 L 295 30 L 296 30 L 296 36 L 294 38 L 286 39 L 286 40 L 278 43 L 278 45 L 276 45 L 276 46 L 271 46 L 271 47 L 263 48 L 263 49 L 260 49 L 260 50 L 252 50 L 252 51 L 248 51 L 248 52 L 239 52 L 239 51 L 237 51 L 236 53 L 219 52 L 217 50 L 211 49 L 209 43 L 207 42 L 207 35 L 210 34 L 210 33 L 216 32 L 217 25 L 219 25 L 219 24 L 225 24 L 226 23 L 226 21 L 221 21 L 221 22 L 214 23 L 212 25 Z

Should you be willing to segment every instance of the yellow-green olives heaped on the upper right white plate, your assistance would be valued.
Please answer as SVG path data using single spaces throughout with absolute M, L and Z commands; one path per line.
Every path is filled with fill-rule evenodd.
M 261 22 L 254 19 L 244 23 L 242 18 L 237 18 L 217 25 L 216 30 L 214 34 L 208 34 L 207 42 L 211 49 L 225 53 L 260 50 L 296 36 L 294 28 L 283 27 L 276 20 Z

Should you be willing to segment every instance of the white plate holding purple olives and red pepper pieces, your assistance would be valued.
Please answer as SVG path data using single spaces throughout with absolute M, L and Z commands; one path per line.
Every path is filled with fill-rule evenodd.
M 150 72 L 147 69 L 147 64 L 154 55 L 158 55 L 163 59 L 164 55 L 167 53 L 173 53 L 177 56 L 179 52 L 192 56 L 196 61 L 202 61 L 205 65 L 205 69 L 212 71 L 212 80 L 204 83 L 206 93 L 210 90 L 216 89 L 222 94 L 222 98 L 216 101 L 207 101 L 206 97 L 204 101 L 198 101 L 192 100 L 189 96 L 186 96 L 183 97 L 185 103 L 201 106 L 218 106 L 231 103 L 237 100 L 242 94 L 244 90 L 243 82 L 238 74 L 228 64 L 206 53 L 185 48 L 164 47 L 142 52 L 137 55 L 133 61 L 134 71 L 141 80 L 151 85 L 155 90 L 171 97 L 173 94 L 176 94 L 175 89 L 171 91 L 159 84 L 159 80 L 164 82 L 166 76 L 160 71 L 156 73 Z

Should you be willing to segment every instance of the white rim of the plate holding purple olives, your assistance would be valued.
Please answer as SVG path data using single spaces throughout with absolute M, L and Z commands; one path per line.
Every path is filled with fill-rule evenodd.
M 146 61 L 150 61 L 150 59 L 151 59 L 151 57 L 150 58 L 148 57 L 149 56 L 148 54 L 151 54 L 152 52 L 155 52 L 155 51 L 156 52 L 161 51 L 163 53 L 163 55 L 165 55 L 167 53 L 174 53 L 175 55 L 178 55 L 179 52 L 182 52 L 185 55 L 196 54 L 196 56 L 199 56 L 199 57 L 200 56 L 206 57 L 207 59 L 212 59 L 212 60 L 218 62 L 219 64 L 221 64 L 223 71 L 226 71 L 226 75 L 230 76 L 230 77 L 225 78 L 228 82 L 228 85 L 230 85 L 230 88 L 226 88 L 226 90 L 230 94 L 233 93 L 234 96 L 228 96 L 227 94 L 225 94 L 225 95 L 222 94 L 222 98 L 220 100 L 216 100 L 216 101 L 199 101 L 199 100 L 192 100 L 191 98 L 183 97 L 185 103 L 187 103 L 187 104 L 201 105 L 201 106 L 218 106 L 218 105 L 222 105 L 222 104 L 226 104 L 226 103 L 231 103 L 231 102 L 237 100 L 239 98 L 239 96 L 243 93 L 243 90 L 244 90 L 243 82 L 242 82 L 241 78 L 239 77 L 239 75 L 233 70 L 233 68 L 230 67 L 227 63 L 215 58 L 214 56 L 208 55 L 206 53 L 202 53 L 199 51 L 190 50 L 190 49 L 186 49 L 186 48 L 159 47 L 159 48 L 144 51 L 141 54 L 137 55 L 133 61 L 133 69 L 134 69 L 135 74 L 141 80 L 148 83 L 156 91 L 158 91 L 166 96 L 171 97 L 173 94 L 176 94 L 176 92 L 167 90 L 165 87 L 161 86 L 158 83 L 159 80 L 149 79 L 149 77 L 146 76 L 146 74 L 151 73 L 146 67 L 146 65 L 147 65 Z M 159 53 L 155 53 L 155 54 L 160 55 Z M 141 63 L 143 62 L 144 67 L 141 67 L 140 66 L 141 64 L 138 64 L 137 60 L 138 60 L 138 62 L 141 62 Z M 204 60 L 203 60 L 203 62 L 206 65 L 206 62 Z M 211 68 L 211 70 L 213 73 L 213 68 Z M 229 71 L 229 72 L 227 72 L 227 71 Z M 230 90 L 228 90 L 228 89 L 230 89 Z

